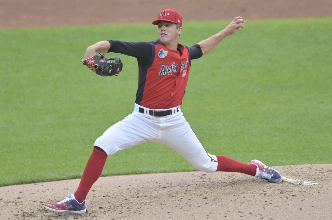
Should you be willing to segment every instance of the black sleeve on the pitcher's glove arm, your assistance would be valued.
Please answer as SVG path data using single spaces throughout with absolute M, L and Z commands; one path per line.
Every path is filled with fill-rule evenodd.
M 129 42 L 119 40 L 108 40 L 111 48 L 108 52 L 120 53 L 137 58 L 140 66 L 145 66 L 151 59 L 152 47 L 148 42 Z

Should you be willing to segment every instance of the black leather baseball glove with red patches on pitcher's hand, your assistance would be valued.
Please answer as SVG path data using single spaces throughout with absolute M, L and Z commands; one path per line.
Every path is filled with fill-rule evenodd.
M 91 67 L 95 67 L 96 73 L 101 76 L 118 75 L 123 66 L 120 58 L 107 58 L 105 54 L 100 54 L 100 56 L 95 54 L 81 62 L 91 70 Z

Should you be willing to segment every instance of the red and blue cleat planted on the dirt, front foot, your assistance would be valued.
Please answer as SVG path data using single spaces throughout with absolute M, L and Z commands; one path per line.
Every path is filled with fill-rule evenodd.
M 73 194 L 68 192 L 68 197 L 60 202 L 46 205 L 46 208 L 55 212 L 69 212 L 76 214 L 83 214 L 86 212 L 85 200 L 79 203 Z

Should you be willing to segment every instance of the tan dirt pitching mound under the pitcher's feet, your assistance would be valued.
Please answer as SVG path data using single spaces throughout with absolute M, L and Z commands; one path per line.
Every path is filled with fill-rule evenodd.
M 45 205 L 79 179 L 0 188 L 0 219 L 329 219 L 332 165 L 276 166 L 279 184 L 240 173 L 180 172 L 101 177 L 85 214 Z M 241 218 L 243 217 L 243 218 Z

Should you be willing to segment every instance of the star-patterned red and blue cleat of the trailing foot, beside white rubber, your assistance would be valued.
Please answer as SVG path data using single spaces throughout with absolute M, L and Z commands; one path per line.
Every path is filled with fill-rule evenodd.
M 261 161 L 252 160 L 250 163 L 254 163 L 257 166 L 257 172 L 255 177 L 257 177 L 258 182 L 260 178 L 265 179 L 272 183 L 280 183 L 283 180 L 280 173 L 277 170 L 265 165 Z

